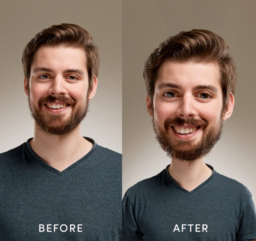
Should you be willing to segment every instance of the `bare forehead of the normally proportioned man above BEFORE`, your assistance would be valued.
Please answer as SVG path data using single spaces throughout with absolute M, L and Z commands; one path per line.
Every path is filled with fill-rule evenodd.
M 47 66 L 45 66 L 47 65 Z M 49 68 L 86 68 L 86 54 L 82 48 L 70 46 L 41 46 L 35 53 L 31 69 L 37 66 Z

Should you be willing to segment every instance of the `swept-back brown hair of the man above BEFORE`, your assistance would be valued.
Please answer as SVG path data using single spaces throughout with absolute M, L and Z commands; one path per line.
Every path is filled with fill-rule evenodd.
M 86 66 L 89 77 L 89 90 L 93 81 L 93 76 L 98 76 L 99 53 L 93 43 L 91 35 L 82 27 L 76 24 L 62 23 L 52 25 L 35 35 L 23 50 L 22 66 L 26 80 L 30 78 L 30 69 L 36 51 L 41 46 L 71 46 L 82 48 L 86 54 Z

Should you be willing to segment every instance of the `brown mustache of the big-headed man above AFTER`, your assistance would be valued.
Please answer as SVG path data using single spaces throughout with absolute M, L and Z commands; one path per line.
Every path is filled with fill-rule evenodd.
M 191 125 L 191 126 L 201 126 L 204 129 L 208 126 L 208 121 L 206 119 L 196 119 L 196 118 L 191 118 L 188 120 L 176 117 L 174 119 L 166 119 L 164 123 L 165 130 L 168 130 L 169 126 L 183 126 L 184 124 Z

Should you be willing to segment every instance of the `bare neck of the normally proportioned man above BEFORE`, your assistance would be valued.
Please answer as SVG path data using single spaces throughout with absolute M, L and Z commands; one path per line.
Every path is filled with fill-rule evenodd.
M 29 144 L 43 161 L 59 171 L 85 156 L 93 146 L 80 134 L 80 125 L 65 135 L 51 135 L 35 125 Z

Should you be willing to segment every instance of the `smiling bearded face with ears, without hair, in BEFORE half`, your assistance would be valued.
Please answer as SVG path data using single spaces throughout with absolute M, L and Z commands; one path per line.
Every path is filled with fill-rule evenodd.
M 42 46 L 34 56 L 28 82 L 31 115 L 36 126 L 53 135 L 75 129 L 85 117 L 88 101 L 95 95 L 97 78 L 88 92 L 86 55 L 80 48 Z

